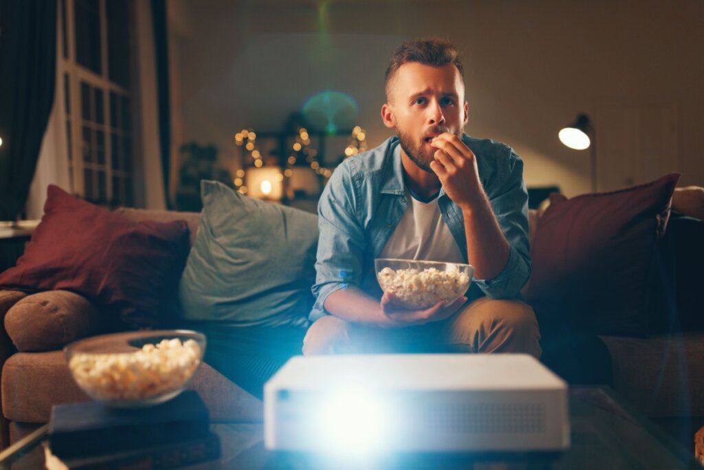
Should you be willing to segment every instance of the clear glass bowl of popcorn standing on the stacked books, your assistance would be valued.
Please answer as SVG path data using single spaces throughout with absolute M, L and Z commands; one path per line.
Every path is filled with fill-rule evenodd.
M 177 396 L 203 361 L 206 336 L 153 330 L 94 336 L 63 348 L 78 386 L 109 407 L 144 408 Z

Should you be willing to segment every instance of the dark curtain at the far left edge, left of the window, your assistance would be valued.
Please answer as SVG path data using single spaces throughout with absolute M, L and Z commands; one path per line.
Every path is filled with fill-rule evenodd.
M 0 220 L 25 206 L 55 81 L 56 1 L 0 0 Z

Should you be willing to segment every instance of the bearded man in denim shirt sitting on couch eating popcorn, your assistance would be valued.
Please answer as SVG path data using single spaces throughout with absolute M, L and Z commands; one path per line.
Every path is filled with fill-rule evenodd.
M 523 164 L 463 134 L 463 66 L 448 42 L 406 42 L 386 70 L 379 147 L 336 169 L 318 205 L 317 297 L 303 354 L 526 352 L 535 315 L 517 300 L 530 274 Z M 407 310 L 379 289 L 374 259 L 474 266 L 466 297 Z

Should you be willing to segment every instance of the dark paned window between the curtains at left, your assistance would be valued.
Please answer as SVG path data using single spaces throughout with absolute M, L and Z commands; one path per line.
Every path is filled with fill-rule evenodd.
M 70 190 L 134 206 L 130 0 L 59 0 Z

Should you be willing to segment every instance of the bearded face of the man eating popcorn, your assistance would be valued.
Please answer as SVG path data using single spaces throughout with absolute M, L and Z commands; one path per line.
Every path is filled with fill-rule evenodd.
M 467 122 L 465 86 L 459 70 L 418 62 L 404 63 L 391 77 L 389 103 L 382 106 L 384 125 L 395 128 L 401 149 L 417 166 L 432 173 L 437 150 L 430 144 L 443 132 L 461 135 Z

